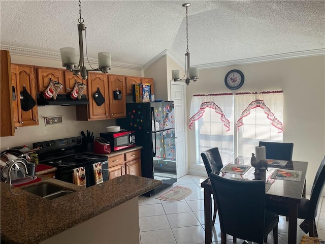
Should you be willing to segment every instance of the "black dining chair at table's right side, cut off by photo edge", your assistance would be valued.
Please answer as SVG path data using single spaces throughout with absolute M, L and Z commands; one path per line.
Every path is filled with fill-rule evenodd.
M 317 170 L 313 186 L 311 188 L 310 199 L 303 197 L 298 205 L 298 219 L 308 221 L 309 236 L 317 237 L 315 218 L 317 216 L 317 207 L 321 192 L 325 182 L 325 157 L 321 161 Z M 289 216 L 289 209 L 267 204 L 268 210 L 276 212 L 278 215 Z M 307 232 L 307 233 L 308 233 Z

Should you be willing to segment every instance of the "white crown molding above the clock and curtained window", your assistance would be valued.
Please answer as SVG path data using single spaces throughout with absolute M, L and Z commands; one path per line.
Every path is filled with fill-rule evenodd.
M 300 51 L 300 52 L 288 52 L 288 53 L 281 53 L 281 54 L 262 56 L 262 57 L 253 57 L 253 58 L 245 58 L 245 59 L 231 60 L 225 62 L 204 64 L 204 65 L 196 65 L 195 67 L 197 67 L 198 69 L 211 69 L 211 68 L 219 68 L 225 66 L 247 65 L 247 64 L 270 62 L 275 60 L 283 60 L 283 59 L 297 58 L 297 57 L 317 56 L 317 55 L 325 55 L 325 49 L 322 48 L 322 49 Z

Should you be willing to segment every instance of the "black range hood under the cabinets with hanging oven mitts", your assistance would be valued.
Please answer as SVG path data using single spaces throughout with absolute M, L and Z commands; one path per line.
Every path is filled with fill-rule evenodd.
M 37 106 L 64 106 L 64 105 L 86 105 L 89 104 L 86 95 L 81 99 L 71 99 L 70 94 L 58 94 L 56 99 L 45 99 L 42 94 L 37 94 Z

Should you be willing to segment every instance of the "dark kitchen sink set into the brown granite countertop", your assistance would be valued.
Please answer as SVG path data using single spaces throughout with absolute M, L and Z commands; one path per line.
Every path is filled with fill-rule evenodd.
M 74 192 L 73 190 L 67 190 L 66 188 L 49 183 L 27 187 L 23 190 L 50 200 Z

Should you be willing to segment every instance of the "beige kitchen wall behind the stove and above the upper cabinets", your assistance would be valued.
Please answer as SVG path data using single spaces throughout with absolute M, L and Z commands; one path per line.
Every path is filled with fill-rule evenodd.
M 64 68 L 60 60 L 49 58 L 26 57 L 22 55 L 11 55 L 12 64 L 26 64 L 45 66 L 53 68 Z M 142 76 L 142 70 L 114 68 L 110 74 Z M 27 145 L 32 148 L 33 142 L 46 141 L 51 139 L 61 139 L 74 136 L 81 136 L 81 131 L 89 130 L 94 132 L 94 136 L 105 132 L 107 126 L 115 125 L 115 119 L 98 120 L 98 121 L 77 121 L 76 106 L 47 106 L 38 107 L 39 126 L 19 127 L 15 129 L 15 136 L 1 137 L 0 150 L 7 147 Z M 45 126 L 44 117 L 51 115 L 62 115 L 62 124 Z

